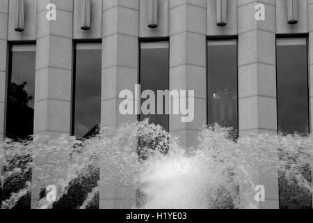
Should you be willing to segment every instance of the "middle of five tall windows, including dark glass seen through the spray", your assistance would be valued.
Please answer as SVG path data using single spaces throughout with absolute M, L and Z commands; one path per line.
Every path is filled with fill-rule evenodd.
M 168 41 L 159 41 L 159 42 L 143 42 L 141 43 L 140 49 L 140 84 L 141 84 L 141 93 L 145 90 L 151 90 L 154 92 L 155 105 L 153 114 L 142 114 L 139 116 L 140 121 L 144 121 L 146 118 L 149 118 L 149 123 L 155 125 L 160 125 L 163 130 L 169 131 L 169 115 L 166 111 L 166 98 L 163 97 L 163 113 L 158 114 L 157 107 L 157 91 L 166 91 L 170 88 L 170 79 L 169 79 L 169 47 Z M 141 99 L 141 105 L 145 102 L 145 98 Z M 160 103 L 160 102 L 159 102 Z M 159 104 L 160 105 L 160 104 Z M 151 109 L 151 108 L 149 108 Z M 165 135 L 163 137 L 166 137 Z M 141 135 L 138 140 L 138 156 L 141 160 L 146 160 L 147 154 L 144 148 L 150 148 L 152 150 L 156 149 L 155 146 L 159 143 L 159 139 L 150 138 L 150 136 L 145 137 Z M 167 151 L 168 145 L 163 145 L 164 152 Z M 141 190 L 137 190 L 137 206 L 141 207 L 145 203 L 145 194 Z

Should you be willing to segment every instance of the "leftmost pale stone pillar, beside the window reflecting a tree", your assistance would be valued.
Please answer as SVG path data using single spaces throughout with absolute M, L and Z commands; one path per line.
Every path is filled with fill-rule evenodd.
M 56 4 L 56 21 L 48 21 L 46 18 L 48 3 Z M 70 134 L 73 0 L 38 1 L 37 17 L 34 134 L 54 138 Z M 60 164 L 68 159 L 60 155 Z M 49 164 L 49 157 L 33 162 L 36 167 Z M 53 170 L 44 168 L 40 171 L 51 174 Z M 33 169 L 33 183 L 37 174 Z M 56 182 L 47 183 L 54 185 Z M 33 188 L 32 208 L 38 201 L 40 187 L 45 186 L 39 183 Z

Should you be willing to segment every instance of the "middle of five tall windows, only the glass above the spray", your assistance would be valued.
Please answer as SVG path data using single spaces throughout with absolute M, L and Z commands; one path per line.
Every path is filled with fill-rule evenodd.
M 157 114 L 157 91 L 169 89 L 169 49 L 168 42 L 141 43 L 141 93 L 152 90 L 156 95 L 154 114 L 141 114 L 140 121 L 150 119 L 150 123 L 161 125 L 164 130 L 169 130 L 169 116 L 166 114 L 166 101 L 163 98 L 163 114 Z M 143 99 L 143 103 L 146 99 Z

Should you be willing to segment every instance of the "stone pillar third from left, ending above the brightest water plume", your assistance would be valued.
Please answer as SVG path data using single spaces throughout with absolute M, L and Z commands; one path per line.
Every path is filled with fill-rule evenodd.
M 170 133 L 182 146 L 195 146 L 206 121 L 207 1 L 170 1 L 170 90 L 195 90 L 194 120 L 170 114 Z M 185 98 L 182 98 L 185 99 Z M 179 98 L 171 99 L 171 103 Z M 188 105 L 188 104 L 187 104 Z

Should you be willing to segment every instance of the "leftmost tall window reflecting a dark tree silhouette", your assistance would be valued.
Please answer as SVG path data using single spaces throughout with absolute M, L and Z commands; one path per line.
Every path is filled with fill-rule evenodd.
M 35 45 L 13 45 L 11 47 L 10 74 L 8 77 L 8 97 L 6 109 L 6 137 L 27 144 L 33 134 L 34 93 L 35 93 Z M 8 147 L 7 147 L 8 148 Z M 8 148 L 9 149 L 9 148 Z M 4 171 L 20 169 L 16 174 L 3 182 L 3 199 L 8 199 L 12 193 L 19 192 L 31 181 L 29 166 L 32 157 L 29 154 L 18 154 L 6 157 L 7 165 Z M 14 208 L 30 208 L 31 194 L 25 194 L 15 204 Z

